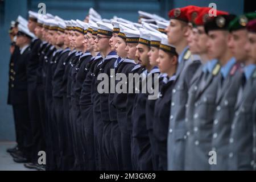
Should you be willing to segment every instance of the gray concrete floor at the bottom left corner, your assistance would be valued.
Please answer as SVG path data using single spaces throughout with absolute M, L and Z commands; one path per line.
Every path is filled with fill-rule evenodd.
M 13 157 L 6 152 L 7 148 L 15 145 L 15 142 L 0 142 L 0 171 L 35 171 L 24 167 L 23 163 L 15 163 Z

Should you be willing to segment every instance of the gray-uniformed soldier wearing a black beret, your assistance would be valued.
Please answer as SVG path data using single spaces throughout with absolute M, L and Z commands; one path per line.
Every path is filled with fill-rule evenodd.
M 218 15 L 204 24 L 209 36 L 208 48 L 210 56 L 221 64 L 218 75 L 216 108 L 213 117 L 212 151 L 217 154 L 217 163 L 210 166 L 212 170 L 227 169 L 228 143 L 231 121 L 234 115 L 236 95 L 241 80 L 240 63 L 233 57 L 228 47 L 228 24 L 234 15 Z

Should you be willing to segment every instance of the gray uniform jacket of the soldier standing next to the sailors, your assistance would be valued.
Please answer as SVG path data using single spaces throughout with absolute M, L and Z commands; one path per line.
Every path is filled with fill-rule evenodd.
M 184 170 L 185 158 L 185 105 L 187 104 L 188 89 L 190 81 L 197 68 L 199 60 L 194 60 L 191 52 L 187 50 L 181 57 L 177 68 L 177 75 L 174 89 L 172 90 L 171 115 L 167 139 L 167 160 L 168 170 Z

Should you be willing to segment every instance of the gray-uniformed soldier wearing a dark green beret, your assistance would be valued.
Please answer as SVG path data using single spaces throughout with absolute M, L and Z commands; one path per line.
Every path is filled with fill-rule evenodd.
M 229 46 L 232 47 L 237 60 L 245 60 L 229 137 L 229 170 L 252 170 L 255 163 L 253 160 L 253 110 L 251 108 L 256 98 L 256 59 L 253 56 L 255 49 L 249 39 L 256 38 L 256 34 L 252 32 L 248 35 L 246 30 L 248 20 L 255 18 L 256 13 L 241 15 L 229 25 L 232 34 Z M 248 29 L 255 31 L 253 28 L 250 29 L 251 26 L 249 24 Z

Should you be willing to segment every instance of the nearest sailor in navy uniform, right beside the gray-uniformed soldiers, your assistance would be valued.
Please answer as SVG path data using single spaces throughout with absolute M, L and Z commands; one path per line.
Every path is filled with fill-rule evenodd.
M 155 138 L 156 156 L 158 156 L 158 168 L 167 170 L 167 134 L 172 100 L 172 88 L 174 87 L 175 73 L 177 69 L 177 53 L 175 47 L 168 43 L 167 36 L 162 36 L 159 57 L 156 60 L 161 72 L 158 100 L 155 102 L 154 118 L 152 122 L 153 137 Z

